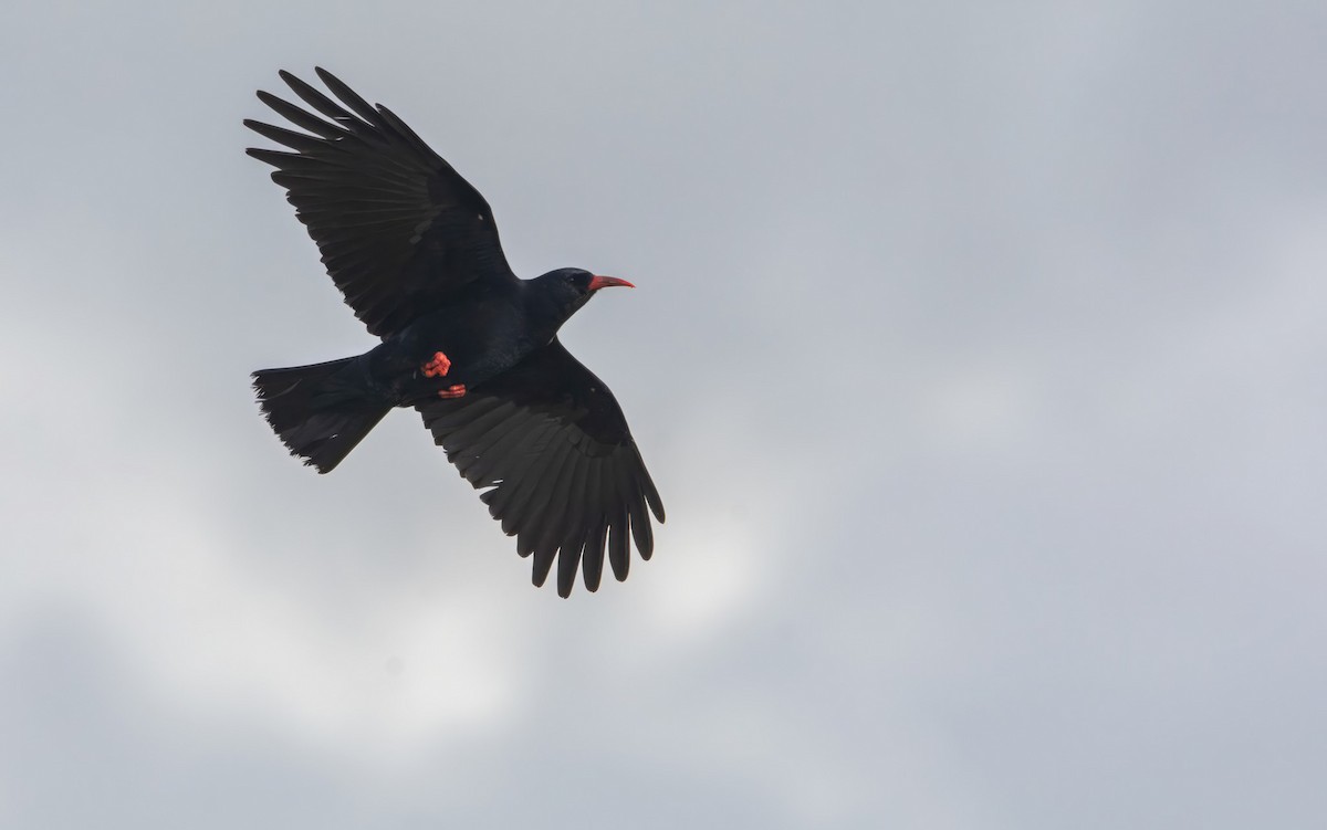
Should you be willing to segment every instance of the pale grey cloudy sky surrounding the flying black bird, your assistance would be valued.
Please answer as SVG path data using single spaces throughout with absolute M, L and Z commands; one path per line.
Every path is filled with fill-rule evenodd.
M 20 3 L 0 825 L 1320 827 L 1322 3 Z M 664 493 L 529 586 L 243 155 L 338 73 L 494 204 Z

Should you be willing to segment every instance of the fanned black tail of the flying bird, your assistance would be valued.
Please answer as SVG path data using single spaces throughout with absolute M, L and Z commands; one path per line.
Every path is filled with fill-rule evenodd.
M 267 423 L 291 455 L 320 473 L 336 468 L 393 406 L 374 392 L 354 361 L 253 373 L 253 390 Z

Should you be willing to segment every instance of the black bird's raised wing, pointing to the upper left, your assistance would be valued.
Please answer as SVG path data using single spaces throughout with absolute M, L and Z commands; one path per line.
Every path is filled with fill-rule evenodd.
M 293 150 L 248 154 L 276 167 L 272 180 L 287 188 L 328 274 L 369 331 L 398 331 L 474 280 L 515 280 L 479 191 L 387 107 L 374 109 L 332 73 L 317 73 L 349 110 L 283 70 L 295 94 L 330 122 L 259 91 L 263 103 L 313 135 L 245 119 Z

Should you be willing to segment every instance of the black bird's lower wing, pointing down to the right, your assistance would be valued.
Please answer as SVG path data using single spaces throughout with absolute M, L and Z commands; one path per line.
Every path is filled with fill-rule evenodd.
M 645 508 L 664 521 L 658 491 L 613 392 L 556 339 L 463 398 L 415 408 L 460 475 L 492 488 L 480 499 L 516 536 L 516 552 L 535 554 L 535 585 L 556 557 L 559 594 L 571 594 L 580 562 L 585 587 L 598 589 L 605 541 L 613 575 L 625 579 L 628 530 L 650 558 Z

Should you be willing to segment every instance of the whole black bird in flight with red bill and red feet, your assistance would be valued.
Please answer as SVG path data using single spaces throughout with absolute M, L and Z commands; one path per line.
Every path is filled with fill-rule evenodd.
M 276 167 L 328 274 L 370 334 L 358 357 L 253 373 L 268 423 L 291 453 L 332 471 L 393 407 L 414 407 L 434 443 L 488 512 L 533 554 L 543 585 L 557 560 L 557 593 L 576 567 L 596 590 L 604 550 L 617 579 L 654 549 L 664 504 L 613 394 L 557 341 L 601 288 L 630 282 L 560 268 L 512 273 L 488 203 L 381 103 L 369 106 L 332 73 L 340 103 L 288 72 L 312 110 L 259 91 L 307 133 L 245 121 L 285 147 L 247 152 Z

